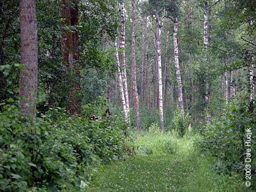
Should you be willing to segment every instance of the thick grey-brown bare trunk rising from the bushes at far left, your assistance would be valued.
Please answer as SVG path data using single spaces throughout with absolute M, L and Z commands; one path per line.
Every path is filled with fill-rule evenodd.
M 38 89 L 38 34 L 36 26 L 36 1 L 20 0 L 20 110 L 26 116 L 36 116 L 36 95 Z

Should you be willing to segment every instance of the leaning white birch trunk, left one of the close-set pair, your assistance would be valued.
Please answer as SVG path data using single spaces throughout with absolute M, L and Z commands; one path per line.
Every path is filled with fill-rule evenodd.
M 123 105 L 123 113 L 125 115 L 125 123 L 129 124 L 129 114 L 127 112 L 126 102 L 125 102 L 125 93 L 123 91 L 123 80 L 122 80 L 122 74 L 120 70 L 120 64 L 119 64 L 119 56 L 118 56 L 118 49 L 117 49 L 117 37 L 115 38 L 115 61 L 117 62 L 117 68 L 118 68 L 118 85 L 119 85 L 119 91 L 121 96 L 121 101 Z

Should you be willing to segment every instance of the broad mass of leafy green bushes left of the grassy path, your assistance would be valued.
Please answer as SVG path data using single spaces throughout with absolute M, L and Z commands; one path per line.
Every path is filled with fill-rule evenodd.
M 101 162 L 122 156 L 122 123 L 101 114 L 89 121 L 55 108 L 31 123 L 15 105 L 3 108 L 0 191 L 80 191 Z

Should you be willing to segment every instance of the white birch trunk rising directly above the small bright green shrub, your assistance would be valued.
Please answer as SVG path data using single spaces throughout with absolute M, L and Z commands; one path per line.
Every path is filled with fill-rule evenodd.
M 181 110 L 184 110 L 182 82 L 181 82 L 180 64 L 179 64 L 179 48 L 177 45 L 177 26 L 178 26 L 178 22 L 176 17 L 174 18 L 174 62 L 175 62 L 176 76 L 177 76 L 178 105 Z

